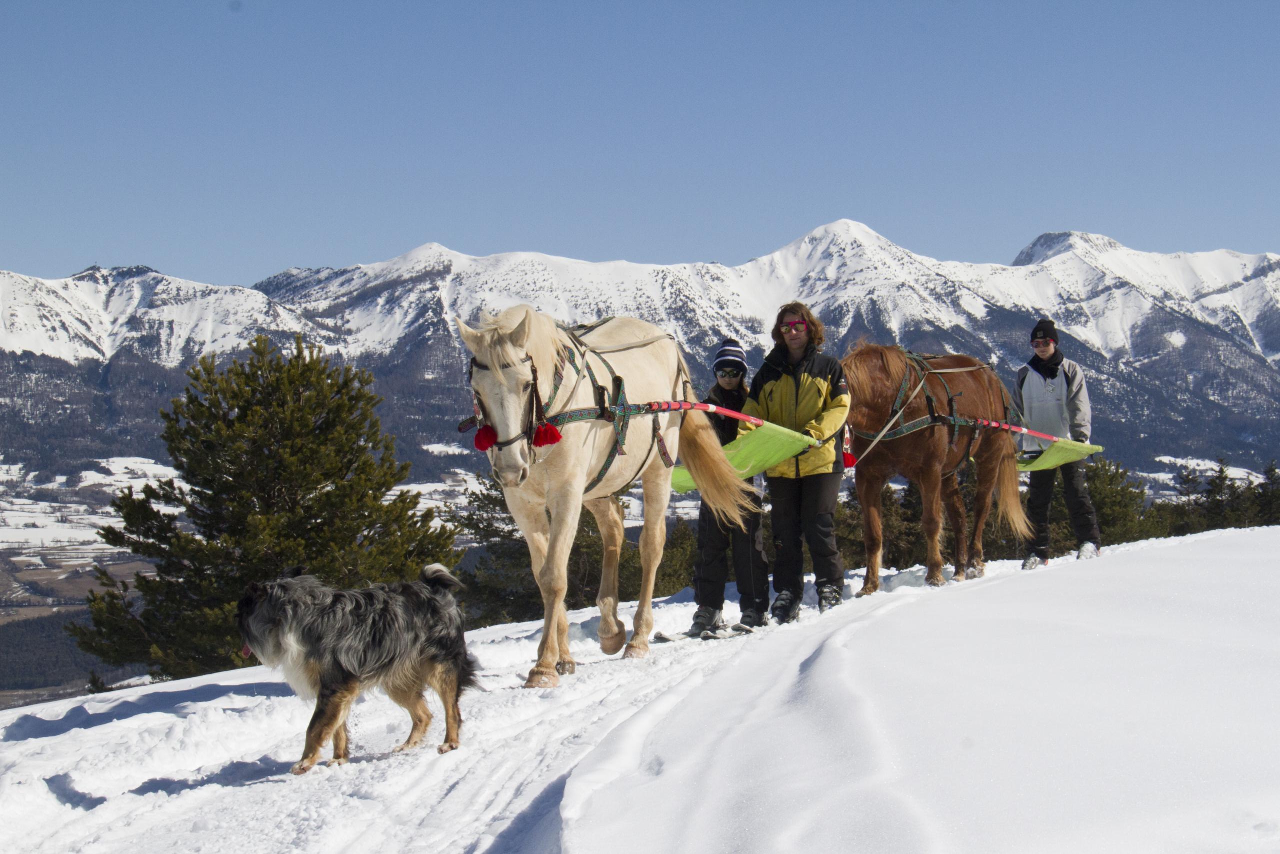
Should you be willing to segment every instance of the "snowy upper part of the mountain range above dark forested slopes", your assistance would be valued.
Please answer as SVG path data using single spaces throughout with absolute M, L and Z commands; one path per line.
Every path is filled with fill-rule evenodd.
M 516 302 L 564 320 L 627 314 L 687 338 L 716 329 L 767 346 L 773 312 L 792 298 L 837 324 L 858 318 L 863 324 L 855 325 L 893 338 L 909 328 L 974 330 L 992 310 L 1048 315 L 1106 357 L 1140 357 L 1146 346 L 1133 332 L 1152 311 L 1167 311 L 1280 357 L 1277 255 L 1161 255 L 1061 232 L 1037 238 L 1011 266 L 965 264 L 915 255 L 847 219 L 733 268 L 538 252 L 474 257 L 426 243 L 340 270 L 293 268 L 255 289 L 184 282 L 148 268 L 90 268 L 50 280 L 0 273 L 0 347 L 78 361 L 146 339 L 157 361 L 173 365 L 275 330 L 302 332 L 348 355 L 388 353 L 443 329 L 453 314 Z

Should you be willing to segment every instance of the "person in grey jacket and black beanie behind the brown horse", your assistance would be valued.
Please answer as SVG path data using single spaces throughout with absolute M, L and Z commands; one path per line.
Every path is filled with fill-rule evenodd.
M 1032 329 L 1032 348 L 1036 355 L 1018 369 L 1014 383 L 1014 406 L 1023 415 L 1023 426 L 1050 435 L 1076 442 L 1089 440 L 1089 389 L 1080 366 L 1064 359 L 1057 348 L 1057 329 L 1053 321 L 1041 318 Z M 1023 451 L 1034 453 L 1048 447 L 1044 439 L 1024 435 Z M 1030 472 L 1027 493 L 1027 515 L 1036 529 L 1030 553 L 1023 561 L 1024 570 L 1033 570 L 1048 562 L 1048 506 L 1053 499 L 1053 483 L 1062 475 L 1062 498 L 1066 499 L 1071 530 L 1079 545 L 1078 558 L 1096 557 L 1101 534 L 1098 516 L 1089 501 L 1084 483 L 1084 462 L 1066 462 L 1056 469 Z

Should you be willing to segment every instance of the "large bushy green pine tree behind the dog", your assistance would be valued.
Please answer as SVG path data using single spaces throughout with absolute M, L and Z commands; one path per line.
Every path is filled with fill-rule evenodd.
M 99 568 L 91 625 L 70 627 L 82 649 L 111 665 L 141 662 L 157 677 L 247 663 L 236 603 L 244 586 L 306 566 L 337 586 L 410 580 L 457 562 L 453 529 L 399 492 L 408 474 L 383 435 L 372 376 L 335 366 L 294 341 L 285 359 L 265 337 L 244 362 L 212 356 L 187 371 L 163 438 L 182 479 L 120 492 L 123 525 L 101 531 L 155 563 L 133 589 Z M 174 512 L 174 511 L 179 512 Z

